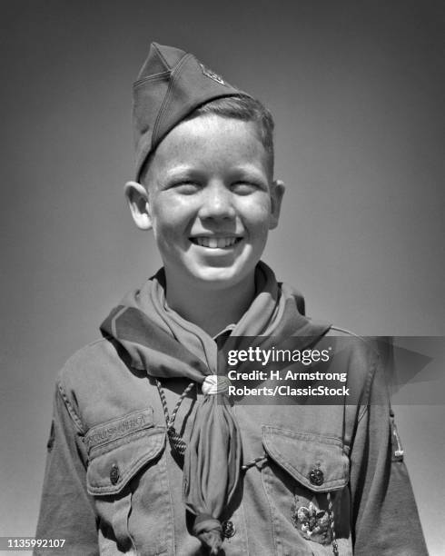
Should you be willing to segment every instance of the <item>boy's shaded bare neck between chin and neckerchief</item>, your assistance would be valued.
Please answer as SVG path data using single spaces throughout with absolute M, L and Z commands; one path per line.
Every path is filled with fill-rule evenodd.
M 255 293 L 253 276 L 245 283 L 225 290 L 187 288 L 167 279 L 169 307 L 183 319 L 196 324 L 214 337 L 232 323 L 238 323 L 252 303 Z

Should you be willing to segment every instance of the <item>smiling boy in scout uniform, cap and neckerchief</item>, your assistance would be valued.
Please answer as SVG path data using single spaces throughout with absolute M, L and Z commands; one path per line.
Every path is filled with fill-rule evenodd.
M 260 261 L 284 192 L 269 112 L 153 44 L 134 128 L 125 194 L 163 269 L 59 375 L 38 537 L 82 555 L 426 554 L 377 352 L 312 323 Z M 341 345 L 356 403 L 234 404 L 221 353 L 271 338 Z

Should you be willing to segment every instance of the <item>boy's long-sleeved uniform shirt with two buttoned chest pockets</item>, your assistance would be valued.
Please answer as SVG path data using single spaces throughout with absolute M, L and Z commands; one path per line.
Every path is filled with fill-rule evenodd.
M 247 469 L 224 516 L 225 556 L 332 554 L 332 526 L 341 555 L 427 554 L 379 355 L 364 341 L 337 352 L 359 403 L 233 407 Z M 187 384 L 163 381 L 170 412 Z M 201 395 L 176 415 L 184 439 Z M 48 450 L 37 536 L 66 539 L 52 554 L 207 553 L 188 530 L 159 392 L 115 342 L 90 344 L 59 374 Z

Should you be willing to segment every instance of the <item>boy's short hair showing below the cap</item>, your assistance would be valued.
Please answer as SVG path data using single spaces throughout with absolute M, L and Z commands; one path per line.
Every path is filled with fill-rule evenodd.
M 256 124 L 260 140 L 267 154 L 269 154 L 270 159 L 270 170 L 273 176 L 273 162 L 274 162 L 274 150 L 273 150 L 273 129 L 274 123 L 271 112 L 259 101 L 252 96 L 247 94 L 239 96 L 223 96 L 216 98 L 208 103 L 201 104 L 188 114 L 183 120 L 193 120 L 200 115 L 219 115 L 223 118 L 233 118 L 235 120 L 241 120 L 242 122 L 252 122 Z M 153 155 L 156 150 L 150 153 L 141 168 L 140 181 L 143 183 L 150 162 L 153 160 Z

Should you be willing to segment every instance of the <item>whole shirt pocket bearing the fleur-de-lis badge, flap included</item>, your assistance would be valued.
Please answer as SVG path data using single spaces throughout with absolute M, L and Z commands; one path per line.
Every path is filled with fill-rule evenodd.
M 333 531 L 346 548 L 349 458 L 341 439 L 263 425 L 262 444 L 268 456 L 262 482 L 282 553 L 293 553 L 297 534 L 308 553 L 331 554 Z

